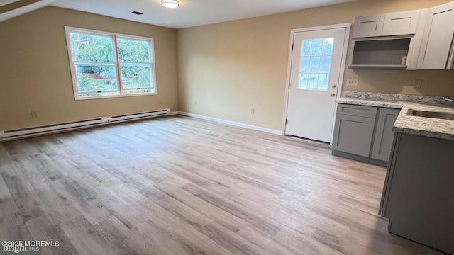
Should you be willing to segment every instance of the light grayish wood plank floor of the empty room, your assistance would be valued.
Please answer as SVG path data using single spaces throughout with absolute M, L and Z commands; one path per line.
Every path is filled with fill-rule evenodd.
M 43 254 L 441 254 L 387 232 L 385 169 L 170 116 L 0 143 L 0 239 Z

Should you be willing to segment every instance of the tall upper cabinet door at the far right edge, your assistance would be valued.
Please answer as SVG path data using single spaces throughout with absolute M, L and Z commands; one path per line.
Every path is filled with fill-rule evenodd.
M 418 69 L 445 69 L 454 35 L 454 2 L 428 10 Z M 452 64 L 450 64 L 450 67 Z M 449 67 L 449 68 L 450 68 Z

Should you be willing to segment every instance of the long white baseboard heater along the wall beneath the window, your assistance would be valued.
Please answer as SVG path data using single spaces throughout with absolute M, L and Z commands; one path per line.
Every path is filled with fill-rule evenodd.
M 67 123 L 56 123 L 52 125 L 42 125 L 33 128 L 19 128 L 15 130 L 0 131 L 0 142 L 17 140 L 21 138 L 34 137 L 38 135 L 48 135 L 56 132 L 66 132 L 70 130 L 78 130 L 82 128 L 92 128 L 99 125 L 112 123 L 121 123 L 124 121 L 141 120 L 145 118 L 153 118 L 163 115 L 170 115 L 170 109 L 162 109 L 156 111 L 147 111 L 141 113 L 129 113 L 123 115 L 113 115 L 100 118 L 92 118 L 87 120 L 77 120 Z

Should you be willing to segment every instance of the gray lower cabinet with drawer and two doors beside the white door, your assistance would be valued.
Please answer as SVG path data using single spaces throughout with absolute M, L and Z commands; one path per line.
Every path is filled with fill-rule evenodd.
M 387 166 L 399 109 L 338 104 L 333 155 Z

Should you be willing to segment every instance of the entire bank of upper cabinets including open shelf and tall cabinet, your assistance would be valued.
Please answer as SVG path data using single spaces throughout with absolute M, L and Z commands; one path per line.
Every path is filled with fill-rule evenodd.
M 350 69 L 454 69 L 454 2 L 355 18 Z

